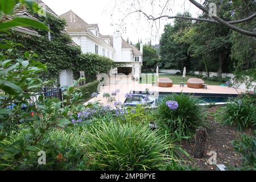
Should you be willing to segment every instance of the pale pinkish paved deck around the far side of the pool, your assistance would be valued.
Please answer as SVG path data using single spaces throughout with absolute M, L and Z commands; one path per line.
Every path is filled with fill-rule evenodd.
M 228 86 L 218 86 L 218 85 L 208 85 L 208 89 L 193 89 L 188 88 L 187 85 L 185 85 L 183 88 L 180 87 L 180 85 L 174 85 L 171 88 L 162 88 L 159 86 L 152 86 L 152 84 L 139 84 L 138 82 L 130 82 L 129 84 L 115 84 L 115 85 L 108 85 L 108 86 L 102 86 L 100 94 L 97 98 L 93 98 L 92 100 L 88 102 L 95 102 L 100 101 L 101 104 L 107 105 L 106 98 L 103 97 L 103 93 L 112 93 L 116 89 L 120 90 L 120 93 L 118 96 L 115 97 L 117 101 L 125 102 L 125 94 L 130 93 L 131 91 L 142 91 L 145 92 L 146 89 L 154 92 L 183 92 L 183 93 L 211 93 L 211 94 L 238 94 L 243 93 L 245 90 L 242 89 L 234 89 L 229 88 Z M 86 102 L 85 104 L 88 104 Z

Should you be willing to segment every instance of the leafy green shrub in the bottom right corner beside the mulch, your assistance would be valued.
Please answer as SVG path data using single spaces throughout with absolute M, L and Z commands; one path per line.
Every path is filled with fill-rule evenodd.
M 254 131 L 256 134 L 256 131 Z M 242 135 L 240 139 L 234 140 L 234 150 L 242 156 L 242 167 L 229 167 L 238 171 L 255 171 L 256 170 L 256 140 L 255 137 Z

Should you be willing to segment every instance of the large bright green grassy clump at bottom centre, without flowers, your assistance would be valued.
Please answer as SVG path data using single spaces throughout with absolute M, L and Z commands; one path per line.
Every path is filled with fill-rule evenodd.
M 154 170 L 164 167 L 169 159 L 165 151 L 171 145 L 164 136 L 148 126 L 114 121 L 92 126 L 86 135 L 88 154 L 93 170 Z

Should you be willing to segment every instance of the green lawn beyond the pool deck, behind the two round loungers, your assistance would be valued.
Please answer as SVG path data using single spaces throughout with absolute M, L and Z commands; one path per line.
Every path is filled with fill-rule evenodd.
M 143 74 L 147 75 L 147 76 L 144 76 L 144 77 L 146 77 L 146 81 L 145 81 L 145 78 L 143 77 Z M 151 76 L 151 75 L 152 75 L 152 73 L 149 73 L 149 74 L 148 73 L 142 73 L 142 78 L 144 80 L 143 80 L 143 82 L 141 80 L 140 83 L 141 84 L 152 84 L 152 82 L 156 82 L 154 75 L 152 75 L 152 81 L 150 81 L 151 79 L 148 78 L 148 76 Z M 182 75 L 159 75 L 159 77 L 168 77 L 168 78 L 170 78 L 174 82 L 175 85 L 179 85 L 180 82 L 183 82 Z M 185 77 L 185 80 L 184 80 L 185 84 L 187 83 L 189 78 L 197 78 L 197 77 L 187 75 Z M 205 80 L 205 79 L 203 79 L 203 80 L 205 81 L 205 84 L 208 84 L 208 85 L 221 85 L 221 84 L 225 84 L 224 82 L 217 82 L 217 81 L 211 81 L 211 80 Z

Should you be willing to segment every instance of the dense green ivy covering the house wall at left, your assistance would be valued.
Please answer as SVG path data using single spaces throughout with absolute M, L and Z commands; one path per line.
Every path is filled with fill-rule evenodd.
M 76 79 L 80 77 L 80 71 L 84 71 L 86 82 L 89 82 L 96 80 L 98 73 L 108 73 L 110 69 L 117 67 L 108 57 L 92 53 L 82 54 L 81 48 L 73 43 L 71 36 L 64 31 L 64 19 L 50 14 L 46 18 L 34 16 L 49 24 L 51 40 L 48 32 L 42 30 L 36 30 L 40 37 L 12 31 L 6 35 L 6 39 L 23 45 L 16 47 L 13 58 L 22 57 L 26 50 L 36 53 L 38 60 L 47 64 L 48 68 L 48 72 L 40 76 L 44 80 L 51 80 L 52 85 L 59 85 L 59 75 L 63 69 L 72 69 Z

